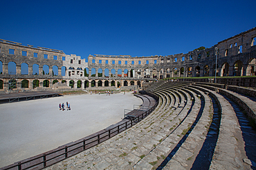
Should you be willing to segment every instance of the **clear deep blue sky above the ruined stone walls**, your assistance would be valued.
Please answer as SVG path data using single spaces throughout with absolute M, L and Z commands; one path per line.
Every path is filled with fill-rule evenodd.
M 0 39 L 77 54 L 187 53 L 256 26 L 256 1 L 1 1 Z

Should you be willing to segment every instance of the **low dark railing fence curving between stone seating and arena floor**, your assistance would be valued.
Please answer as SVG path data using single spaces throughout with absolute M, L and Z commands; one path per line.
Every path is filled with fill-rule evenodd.
M 158 96 L 155 94 L 150 94 L 147 92 L 147 95 L 156 97 L 156 104 L 144 111 L 140 114 L 139 119 L 142 120 L 147 115 L 149 115 L 158 105 Z M 95 145 L 108 140 L 109 138 L 116 136 L 117 134 L 125 131 L 129 127 L 132 127 L 138 123 L 138 120 L 127 120 L 124 119 L 120 123 L 116 123 L 116 125 L 112 125 L 107 129 L 103 129 L 102 131 L 98 131 L 98 133 L 92 134 L 91 136 L 87 136 L 75 142 L 68 143 L 67 145 L 58 147 L 57 149 L 53 149 L 51 151 L 47 151 L 45 153 L 39 154 L 32 158 L 28 158 L 26 160 L 21 160 L 20 162 L 16 162 L 14 164 L 10 164 L 6 167 L 0 168 L 0 170 L 13 169 L 13 170 L 23 170 L 23 169 L 43 169 L 45 167 L 51 166 L 57 162 L 60 162 L 66 158 L 74 156 L 77 153 L 80 153 L 86 149 L 94 147 Z

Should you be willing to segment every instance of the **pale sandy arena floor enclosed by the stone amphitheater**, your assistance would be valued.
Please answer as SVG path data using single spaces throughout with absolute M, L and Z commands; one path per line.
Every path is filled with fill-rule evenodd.
M 59 104 L 71 103 L 70 111 Z M 83 94 L 0 105 L 0 167 L 55 149 L 118 123 L 143 101 L 131 93 Z

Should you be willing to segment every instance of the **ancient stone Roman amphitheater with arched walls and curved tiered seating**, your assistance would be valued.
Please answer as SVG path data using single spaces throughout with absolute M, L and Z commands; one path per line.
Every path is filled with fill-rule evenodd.
M 3 39 L 0 50 L 2 94 L 142 89 L 143 101 L 115 125 L 1 169 L 256 169 L 256 28 L 168 56 L 86 62 Z

